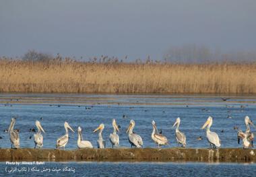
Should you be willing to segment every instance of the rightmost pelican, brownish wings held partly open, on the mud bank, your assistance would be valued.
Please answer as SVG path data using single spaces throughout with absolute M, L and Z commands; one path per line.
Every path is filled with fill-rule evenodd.
M 245 116 L 245 126 L 247 127 L 246 131 L 245 131 L 245 135 L 248 139 L 248 141 L 251 143 L 251 147 L 253 147 L 253 139 L 254 139 L 254 135 L 251 132 L 251 128 L 250 125 L 253 125 L 253 121 L 251 121 L 251 119 L 249 118 L 249 116 Z M 240 143 L 240 139 L 243 140 L 243 135 L 241 134 L 241 130 L 238 130 L 237 132 L 237 143 Z

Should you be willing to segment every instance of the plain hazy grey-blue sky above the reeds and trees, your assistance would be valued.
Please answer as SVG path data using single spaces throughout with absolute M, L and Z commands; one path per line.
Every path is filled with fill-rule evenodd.
M 255 0 L 0 0 L 0 56 L 162 59 L 172 46 L 256 51 Z

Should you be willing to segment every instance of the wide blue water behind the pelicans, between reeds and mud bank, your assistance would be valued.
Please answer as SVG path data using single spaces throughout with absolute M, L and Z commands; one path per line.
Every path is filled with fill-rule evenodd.
M 253 96 L 164 96 L 164 95 L 86 95 L 86 94 L 0 94 L 0 147 L 10 147 L 9 136 L 3 130 L 9 127 L 11 116 L 18 116 L 15 129 L 20 129 L 21 147 L 34 147 L 30 136 L 35 120 L 40 120 L 46 133 L 44 148 L 55 148 L 58 137 L 65 134 L 64 121 L 75 130 L 83 129 L 84 139 L 96 147 L 98 135 L 92 133 L 104 123 L 102 133 L 110 147 L 109 134 L 113 131 L 112 118 L 121 126 L 120 145 L 129 147 L 125 130 L 131 118 L 134 131 L 141 135 L 144 147 L 155 147 L 151 139 L 154 119 L 158 129 L 168 137 L 170 147 L 177 145 L 172 125 L 181 117 L 180 129 L 187 135 L 187 147 L 208 147 L 205 130 L 201 130 L 207 116 L 214 117 L 212 131 L 218 133 L 222 147 L 241 147 L 237 144 L 234 127 L 245 130 L 244 117 L 255 120 L 256 98 Z M 255 120 L 256 121 L 256 120 Z M 255 131 L 255 129 L 253 129 Z M 77 148 L 77 132 L 70 133 L 67 149 Z M 197 137 L 203 140 L 197 140 Z

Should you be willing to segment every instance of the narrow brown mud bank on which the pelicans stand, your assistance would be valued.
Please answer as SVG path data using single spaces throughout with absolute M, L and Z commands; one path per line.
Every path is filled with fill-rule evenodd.
M 0 149 L 0 161 L 256 162 L 255 149 Z

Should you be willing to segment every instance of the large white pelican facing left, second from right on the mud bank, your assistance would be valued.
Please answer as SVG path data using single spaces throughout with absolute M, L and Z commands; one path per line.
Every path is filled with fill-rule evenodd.
M 210 127 L 212 126 L 212 117 L 211 116 L 209 116 L 207 118 L 205 124 L 203 125 L 203 127 L 201 127 L 201 129 L 205 129 L 206 126 L 207 126 L 206 137 L 210 143 L 210 147 L 212 147 L 212 145 L 214 145 L 214 148 L 220 147 L 220 139 L 219 139 L 217 133 L 210 131 Z

